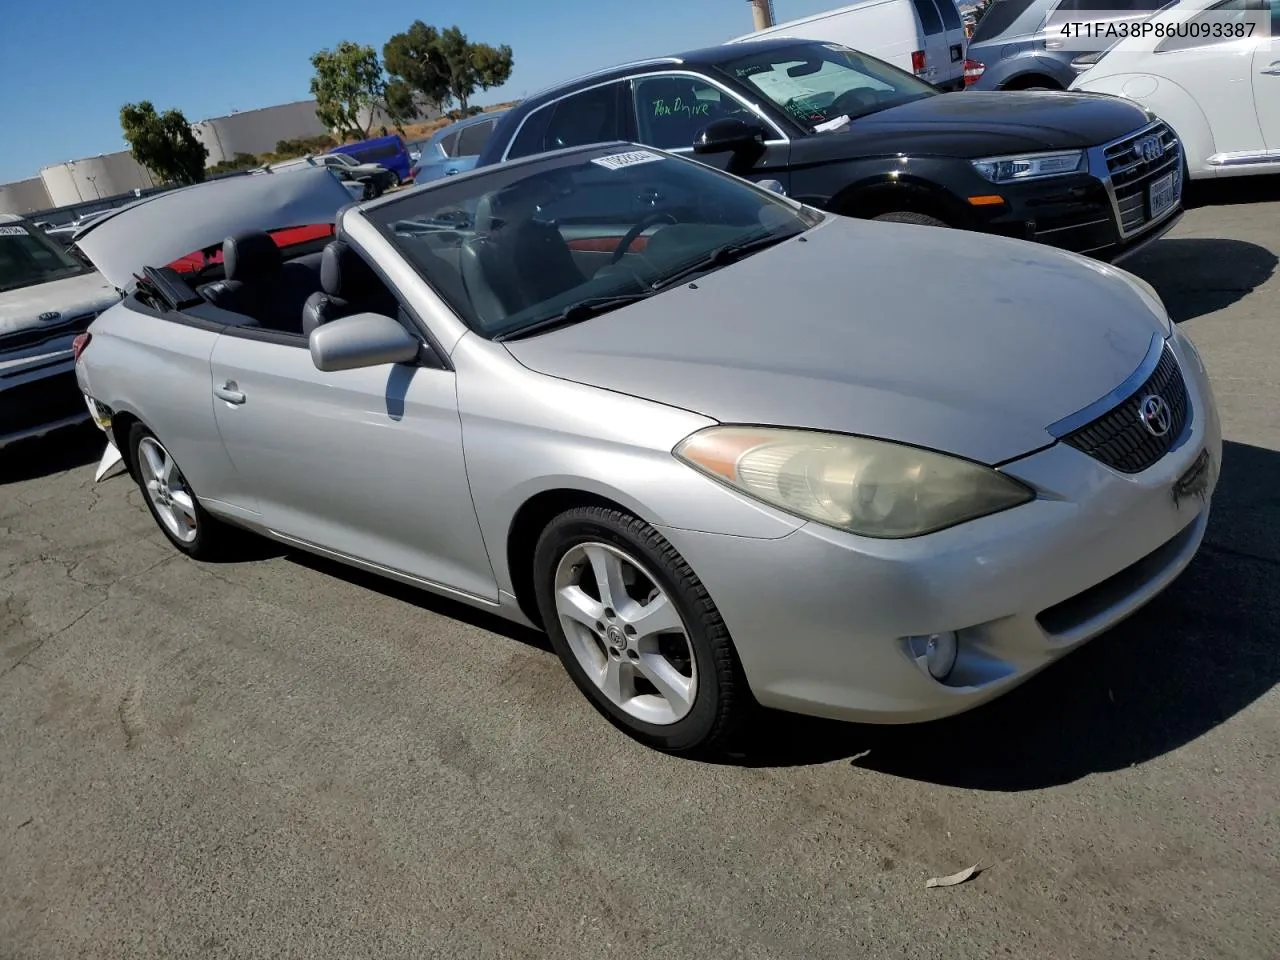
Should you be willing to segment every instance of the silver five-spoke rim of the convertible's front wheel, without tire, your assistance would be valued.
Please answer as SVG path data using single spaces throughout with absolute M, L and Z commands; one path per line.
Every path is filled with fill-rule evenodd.
M 603 543 L 571 547 L 556 567 L 556 612 L 582 671 L 628 717 L 660 726 L 692 709 L 689 630 L 637 561 Z

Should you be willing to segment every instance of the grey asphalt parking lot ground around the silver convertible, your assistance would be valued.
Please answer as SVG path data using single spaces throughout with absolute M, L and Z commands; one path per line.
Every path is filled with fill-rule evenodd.
M 0 957 L 1276 956 L 1280 184 L 1199 193 L 1125 266 L 1215 383 L 1204 548 L 947 722 L 673 759 L 538 634 L 266 544 L 187 561 L 91 426 L 5 451 Z

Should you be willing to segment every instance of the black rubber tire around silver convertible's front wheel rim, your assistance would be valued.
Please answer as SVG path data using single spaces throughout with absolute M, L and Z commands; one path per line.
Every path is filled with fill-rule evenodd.
M 611 545 L 635 558 L 680 613 L 696 666 L 698 685 L 689 713 L 669 724 L 646 723 L 617 707 L 588 676 L 570 648 L 556 609 L 556 571 L 575 547 Z M 564 669 L 579 690 L 614 726 L 643 744 L 673 754 L 723 751 L 751 713 L 754 701 L 728 628 L 698 575 L 666 538 L 627 513 L 577 507 L 556 517 L 534 549 L 538 609 Z

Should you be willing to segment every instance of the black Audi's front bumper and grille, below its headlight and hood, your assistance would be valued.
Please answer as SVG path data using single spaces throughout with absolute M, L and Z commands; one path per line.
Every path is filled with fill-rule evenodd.
M 1129 154 L 1151 136 L 1161 140 L 1160 157 L 1146 161 Z M 1087 155 L 1087 173 L 995 188 L 1005 204 L 980 219 L 979 229 L 1119 262 L 1181 219 L 1181 143 L 1165 124 L 1148 124 Z M 1176 200 L 1152 216 L 1151 188 L 1165 177 L 1172 178 Z M 992 192 L 992 184 L 986 191 Z

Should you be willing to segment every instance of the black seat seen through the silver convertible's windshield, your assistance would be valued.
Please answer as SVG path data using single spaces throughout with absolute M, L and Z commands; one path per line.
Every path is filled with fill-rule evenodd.
M 586 282 L 556 225 L 534 218 L 538 202 L 516 184 L 476 206 L 476 236 L 462 244 L 461 268 L 485 326 Z

